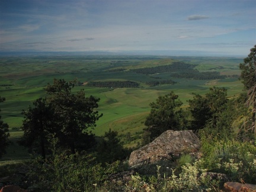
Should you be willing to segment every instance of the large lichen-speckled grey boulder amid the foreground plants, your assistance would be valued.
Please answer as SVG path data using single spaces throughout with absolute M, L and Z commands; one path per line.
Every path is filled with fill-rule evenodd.
M 200 140 L 192 130 L 167 130 L 153 142 L 130 154 L 129 165 L 134 167 L 152 164 L 161 160 L 171 160 L 180 154 L 196 155 L 200 149 Z

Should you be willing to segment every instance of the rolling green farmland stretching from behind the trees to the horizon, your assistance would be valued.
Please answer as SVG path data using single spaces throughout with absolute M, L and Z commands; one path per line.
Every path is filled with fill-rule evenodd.
M 132 136 L 142 132 L 144 121 L 151 108 L 149 103 L 159 95 L 174 91 L 183 101 L 193 98 L 193 93 L 205 94 L 210 87 L 225 87 L 228 96 L 238 95 L 243 85 L 238 80 L 239 63 L 235 57 L 164 57 L 164 56 L 12 56 L 0 57 L 1 116 L 10 130 L 21 127 L 22 110 L 33 101 L 45 95 L 44 87 L 53 79 L 71 81 L 78 79 L 87 96 L 100 98 L 98 107 L 103 117 L 97 122 L 93 132 L 101 136 L 108 129 L 117 130 L 121 135 Z M 178 64 L 177 64 L 178 63 Z M 162 66 L 190 65 L 197 75 L 204 78 L 187 78 L 182 71 L 140 72 L 142 69 L 162 69 Z M 218 73 L 219 77 L 207 79 L 207 72 Z M 206 75 L 205 75 L 206 74 Z M 161 82 L 172 80 L 174 84 Z M 137 87 L 89 87 L 89 82 L 132 81 Z M 160 82 L 150 85 L 149 82 Z M 136 145 L 134 142 L 132 145 Z

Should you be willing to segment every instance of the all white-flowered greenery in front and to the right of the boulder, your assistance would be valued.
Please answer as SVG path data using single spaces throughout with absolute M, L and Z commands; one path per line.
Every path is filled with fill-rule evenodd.
M 201 150 L 203 157 L 194 162 L 190 155 L 182 155 L 171 174 L 156 165 L 156 174 L 147 178 L 133 175 L 123 191 L 220 191 L 223 181 L 207 177 L 207 171 L 226 174 L 230 181 L 256 183 L 254 144 L 237 140 L 203 140 Z

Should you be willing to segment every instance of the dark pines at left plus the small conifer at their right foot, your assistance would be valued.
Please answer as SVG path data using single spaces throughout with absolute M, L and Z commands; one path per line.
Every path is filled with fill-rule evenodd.
M 37 99 L 33 107 L 23 110 L 21 145 L 40 153 L 43 159 L 53 152 L 53 141 L 55 148 L 73 154 L 94 152 L 98 162 L 111 163 L 126 158 L 130 149 L 123 148 L 117 132 L 109 130 L 97 139 L 91 133 L 95 122 L 103 116 L 97 111 L 100 98 L 85 97 L 83 89 L 73 93 L 76 84 L 76 80 L 54 79 L 53 85 L 48 84 L 45 88 L 46 97 Z

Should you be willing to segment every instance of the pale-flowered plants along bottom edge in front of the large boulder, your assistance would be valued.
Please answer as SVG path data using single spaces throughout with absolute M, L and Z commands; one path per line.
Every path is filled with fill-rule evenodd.
M 210 181 L 205 177 L 206 169 L 199 168 L 199 161 L 194 164 L 185 164 L 181 167 L 180 174 L 176 175 L 176 169 L 172 170 L 170 177 L 164 174 L 161 177 L 160 166 L 157 166 L 156 177 L 143 180 L 139 174 L 133 175 L 131 181 L 123 191 L 206 191 L 219 190 L 219 181 Z

